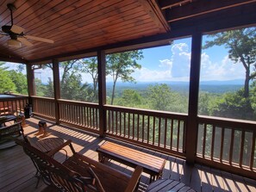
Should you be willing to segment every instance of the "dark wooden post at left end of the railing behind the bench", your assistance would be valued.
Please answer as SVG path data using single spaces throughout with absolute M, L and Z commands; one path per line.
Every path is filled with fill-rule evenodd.
M 97 71 L 98 71 L 98 104 L 99 104 L 99 129 L 100 136 L 104 137 L 106 133 L 106 56 L 105 52 L 97 52 Z

